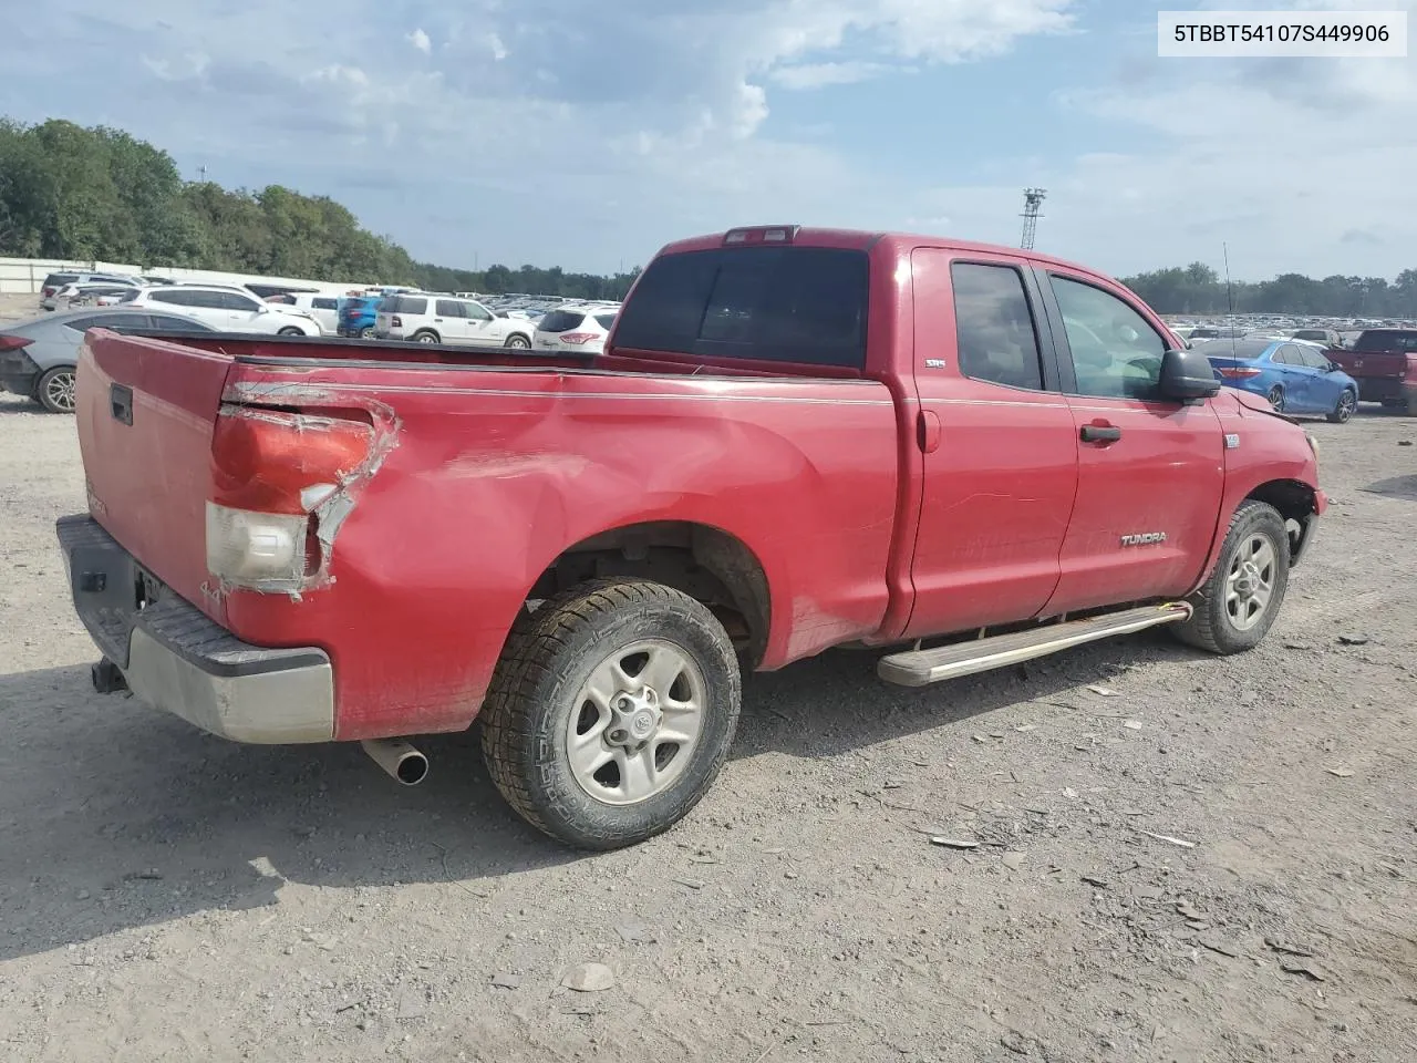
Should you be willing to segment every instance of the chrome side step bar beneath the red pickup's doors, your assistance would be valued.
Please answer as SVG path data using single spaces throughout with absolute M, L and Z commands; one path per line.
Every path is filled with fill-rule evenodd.
M 1091 619 L 1049 624 L 1030 631 L 955 642 L 935 649 L 913 649 L 881 658 L 876 665 L 876 675 L 898 686 L 930 686 L 945 679 L 1007 668 L 1114 635 L 1131 635 L 1162 624 L 1190 619 L 1190 605 L 1183 601 L 1144 605 Z

